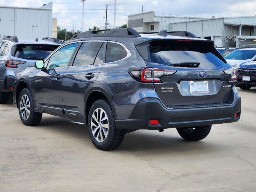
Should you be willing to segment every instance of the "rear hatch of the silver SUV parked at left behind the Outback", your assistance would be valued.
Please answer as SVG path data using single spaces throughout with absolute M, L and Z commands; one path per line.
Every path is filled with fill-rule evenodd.
M 14 73 L 17 75 L 24 69 L 33 67 L 36 61 L 44 60 L 59 46 L 47 44 L 17 44 L 13 46 L 11 60 L 13 60 Z

